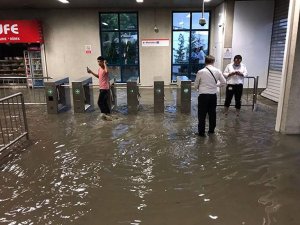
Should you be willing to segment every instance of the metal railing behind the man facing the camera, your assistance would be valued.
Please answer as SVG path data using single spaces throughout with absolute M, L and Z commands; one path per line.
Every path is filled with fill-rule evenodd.
M 242 96 L 242 106 L 251 106 L 252 110 L 256 110 L 257 95 L 258 95 L 258 76 L 245 77 L 244 90 Z M 224 106 L 226 86 L 220 88 L 218 94 L 217 106 Z M 232 101 L 234 102 L 234 100 Z

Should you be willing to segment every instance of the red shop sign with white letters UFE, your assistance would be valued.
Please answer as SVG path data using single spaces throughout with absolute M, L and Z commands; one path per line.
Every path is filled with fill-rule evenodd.
M 37 20 L 0 20 L 0 43 L 43 43 Z

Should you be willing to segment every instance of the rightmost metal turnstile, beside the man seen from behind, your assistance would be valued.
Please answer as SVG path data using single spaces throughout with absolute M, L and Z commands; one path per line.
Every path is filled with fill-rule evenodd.
M 177 76 L 177 107 L 181 113 L 191 112 L 191 80 L 186 76 Z

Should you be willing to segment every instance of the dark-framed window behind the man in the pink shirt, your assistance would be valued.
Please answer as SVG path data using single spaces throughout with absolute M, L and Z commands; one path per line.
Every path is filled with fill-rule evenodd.
M 101 53 L 117 82 L 139 77 L 137 13 L 101 13 Z

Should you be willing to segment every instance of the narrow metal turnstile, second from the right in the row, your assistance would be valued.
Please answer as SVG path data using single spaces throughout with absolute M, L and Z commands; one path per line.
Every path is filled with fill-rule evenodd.
M 161 77 L 154 77 L 154 112 L 163 113 L 165 111 L 165 91 L 164 81 Z

